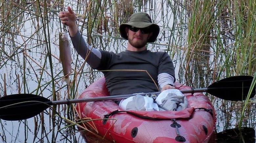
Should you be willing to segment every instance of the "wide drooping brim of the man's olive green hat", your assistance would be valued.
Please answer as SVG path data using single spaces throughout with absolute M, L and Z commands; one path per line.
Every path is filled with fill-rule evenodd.
M 128 39 L 127 34 L 125 32 L 125 28 L 129 27 L 129 26 L 134 26 L 137 28 L 145 28 L 150 26 L 152 29 L 152 36 L 148 39 L 148 42 L 155 42 L 157 40 L 158 34 L 160 32 L 160 28 L 157 24 L 153 24 L 153 23 L 147 23 L 147 22 L 130 22 L 130 23 L 124 23 L 124 24 L 120 24 L 119 26 L 119 31 L 120 31 L 120 36 L 124 39 Z

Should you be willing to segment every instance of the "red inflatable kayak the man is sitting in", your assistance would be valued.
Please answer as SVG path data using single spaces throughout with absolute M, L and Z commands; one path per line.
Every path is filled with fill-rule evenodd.
M 175 83 L 175 87 L 191 89 Z M 215 111 L 202 93 L 184 94 L 188 107 L 181 111 L 123 111 L 113 101 L 78 103 L 80 123 L 95 134 L 115 143 L 203 143 L 215 129 Z M 79 98 L 108 96 L 105 79 L 100 78 Z M 83 135 L 83 134 L 82 134 Z

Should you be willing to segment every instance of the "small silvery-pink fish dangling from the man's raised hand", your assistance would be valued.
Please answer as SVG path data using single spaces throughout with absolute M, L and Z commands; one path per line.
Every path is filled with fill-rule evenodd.
M 68 40 L 68 34 L 65 32 L 59 32 L 59 58 L 62 64 L 64 74 L 62 82 L 65 81 L 69 86 L 69 74 L 71 73 L 71 49 Z

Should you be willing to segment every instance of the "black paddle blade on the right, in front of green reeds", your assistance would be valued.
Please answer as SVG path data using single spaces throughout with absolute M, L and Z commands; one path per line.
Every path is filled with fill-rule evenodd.
M 253 77 L 247 75 L 224 78 L 207 87 L 207 92 L 224 100 L 243 101 L 248 95 L 252 80 Z M 250 98 L 254 96 L 255 85 Z

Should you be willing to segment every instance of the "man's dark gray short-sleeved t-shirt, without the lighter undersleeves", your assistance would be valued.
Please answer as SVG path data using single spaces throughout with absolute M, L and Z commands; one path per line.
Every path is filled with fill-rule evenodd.
M 118 54 L 100 52 L 101 62 L 96 69 L 117 70 L 103 72 L 111 95 L 156 92 L 158 91 L 158 74 L 169 73 L 174 76 L 174 66 L 166 52 L 149 50 L 140 52 L 126 50 Z

